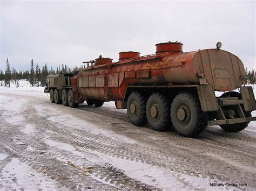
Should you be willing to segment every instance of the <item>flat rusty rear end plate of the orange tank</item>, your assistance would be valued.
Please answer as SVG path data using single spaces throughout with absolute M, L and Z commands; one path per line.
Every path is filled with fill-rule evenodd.
M 205 74 L 214 90 L 230 91 L 243 84 L 245 69 L 241 60 L 227 51 L 205 49 L 194 55 L 193 65 Z

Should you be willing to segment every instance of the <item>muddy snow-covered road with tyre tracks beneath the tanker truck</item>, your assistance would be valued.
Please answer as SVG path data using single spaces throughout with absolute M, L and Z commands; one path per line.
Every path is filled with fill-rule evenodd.
M 255 122 L 185 138 L 134 126 L 113 102 L 74 109 L 42 91 L 0 90 L 0 190 L 256 189 Z

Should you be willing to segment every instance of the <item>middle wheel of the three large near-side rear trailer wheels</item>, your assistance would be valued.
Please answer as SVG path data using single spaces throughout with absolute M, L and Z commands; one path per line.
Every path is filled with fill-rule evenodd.
M 171 103 L 159 93 L 153 93 L 147 100 L 147 121 L 156 131 L 165 131 L 171 125 Z

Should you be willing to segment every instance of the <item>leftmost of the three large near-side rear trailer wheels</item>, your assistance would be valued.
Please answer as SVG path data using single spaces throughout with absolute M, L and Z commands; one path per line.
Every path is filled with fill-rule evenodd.
M 145 125 L 146 98 L 138 91 L 133 91 L 127 100 L 127 114 L 130 122 L 137 126 Z

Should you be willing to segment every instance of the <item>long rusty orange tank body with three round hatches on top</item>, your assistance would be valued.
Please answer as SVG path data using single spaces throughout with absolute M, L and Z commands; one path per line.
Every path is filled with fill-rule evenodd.
M 183 53 L 182 45 L 157 44 L 156 54 L 146 56 L 122 52 L 118 62 L 105 59 L 104 63 L 99 60 L 104 58 L 100 57 L 97 59 L 100 64 L 84 68 L 77 74 L 79 94 L 115 101 L 124 98 L 128 85 L 200 84 L 199 78 L 203 77 L 214 90 L 228 91 L 244 83 L 244 66 L 234 54 L 220 49 Z

